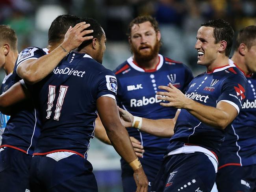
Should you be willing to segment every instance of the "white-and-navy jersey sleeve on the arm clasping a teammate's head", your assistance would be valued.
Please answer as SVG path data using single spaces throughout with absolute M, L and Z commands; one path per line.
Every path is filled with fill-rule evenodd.
M 42 57 L 43 55 L 48 54 L 48 49 L 41 49 L 37 47 L 28 47 L 22 52 L 20 52 L 17 63 L 16 63 L 16 70 L 20 66 L 21 63 L 24 61 L 28 61 L 30 59 L 38 59 L 39 57 Z

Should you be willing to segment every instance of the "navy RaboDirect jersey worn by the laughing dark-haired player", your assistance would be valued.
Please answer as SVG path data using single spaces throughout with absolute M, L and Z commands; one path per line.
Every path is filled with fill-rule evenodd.
M 186 96 L 211 107 L 216 107 L 218 102 L 227 102 L 239 113 L 245 101 L 246 89 L 247 81 L 243 73 L 235 65 L 226 65 L 195 77 Z M 168 152 L 171 153 L 183 146 L 200 146 L 218 156 L 225 132 L 232 129 L 231 126 L 232 124 L 228 125 L 225 130 L 211 127 L 202 123 L 186 109 L 181 109 L 174 127 L 174 135 L 167 148 Z

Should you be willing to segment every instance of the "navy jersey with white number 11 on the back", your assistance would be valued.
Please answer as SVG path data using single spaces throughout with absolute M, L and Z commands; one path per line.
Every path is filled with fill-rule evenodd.
M 94 137 L 96 100 L 115 99 L 115 74 L 87 54 L 71 52 L 32 87 L 42 120 L 34 155 L 69 151 L 87 157 Z

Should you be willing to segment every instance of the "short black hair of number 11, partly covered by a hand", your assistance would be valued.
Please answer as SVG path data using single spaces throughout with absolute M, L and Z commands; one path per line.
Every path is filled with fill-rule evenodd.
M 98 39 L 98 41 L 101 40 L 101 37 L 104 34 L 104 31 L 97 20 L 87 17 L 87 18 L 82 18 L 80 22 L 89 23 L 90 26 L 86 30 L 93 30 L 93 33 L 87 34 L 85 36 L 93 36 L 93 38 Z M 82 50 L 84 47 L 91 44 L 92 42 L 93 42 L 93 39 L 82 42 L 82 44 L 78 47 L 77 51 Z

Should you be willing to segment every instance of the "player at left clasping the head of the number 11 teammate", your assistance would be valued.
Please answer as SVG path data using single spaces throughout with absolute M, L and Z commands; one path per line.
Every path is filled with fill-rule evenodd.
M 60 44 L 58 41 L 63 41 L 63 37 L 67 31 L 68 32 L 65 35 L 62 45 L 69 44 L 69 46 L 71 46 L 70 49 L 76 48 L 76 46 L 82 43 L 81 39 L 78 38 L 82 38 L 82 40 L 92 38 L 83 38 L 84 33 L 87 34 L 92 31 L 81 33 L 81 29 L 78 30 L 78 28 L 70 27 L 78 23 L 79 20 L 80 18 L 69 15 L 59 16 L 54 20 L 49 29 L 49 45 L 52 45 L 50 50 L 51 48 L 57 48 L 54 51 L 52 49 L 52 52 L 48 55 L 46 55 L 48 53 L 48 49 L 41 49 L 41 53 L 46 55 L 41 59 L 41 65 L 44 67 L 40 68 L 40 71 L 35 70 L 34 72 L 35 77 L 39 78 L 39 80 L 45 76 L 45 73 L 51 72 L 51 70 L 47 71 L 46 67 L 52 67 L 52 63 L 57 65 L 58 62 L 67 54 L 63 54 L 61 46 L 58 47 Z M 80 24 L 80 26 L 81 25 L 83 26 L 82 30 L 89 26 L 85 23 Z M 58 42 L 58 45 L 54 47 L 54 43 L 56 42 Z M 35 48 L 28 48 L 22 51 L 17 62 L 19 61 L 19 63 L 21 63 L 23 61 L 32 61 L 31 59 L 34 59 L 33 56 L 35 52 Z M 31 69 L 33 70 L 33 68 L 28 68 L 28 70 Z M 39 72 L 41 72 L 41 76 L 39 75 Z M 16 70 L 14 70 L 13 75 L 14 80 L 12 84 L 20 80 L 17 76 Z M 18 101 L 20 97 L 25 97 L 26 92 L 24 91 L 24 87 L 18 83 L 17 86 L 12 86 L 7 90 L 7 92 L 2 94 L 2 100 L 0 102 L 1 110 L 5 111 L 5 108 L 9 106 L 12 99 Z M 8 92 L 11 93 L 11 95 L 8 94 Z M 19 103 L 12 108 L 15 109 L 15 112 L 7 122 L 6 130 L 3 134 L 2 145 L 0 146 L 0 167 L 2 170 L 0 172 L 0 191 L 20 192 L 29 190 L 29 168 L 35 143 L 38 135 L 40 134 L 40 120 L 31 100 Z

